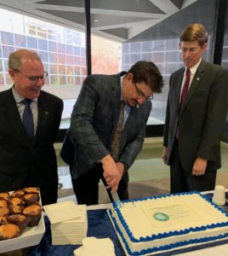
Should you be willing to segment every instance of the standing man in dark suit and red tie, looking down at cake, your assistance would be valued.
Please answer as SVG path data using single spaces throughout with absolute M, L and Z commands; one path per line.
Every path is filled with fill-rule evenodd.
M 163 142 L 171 193 L 214 189 L 221 166 L 219 143 L 227 113 L 228 72 L 202 60 L 207 43 L 208 32 L 201 24 L 186 26 L 180 35 L 185 67 L 170 77 Z

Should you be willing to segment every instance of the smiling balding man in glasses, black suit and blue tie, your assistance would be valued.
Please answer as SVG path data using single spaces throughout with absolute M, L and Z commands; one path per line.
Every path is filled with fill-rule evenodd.
M 42 87 L 48 73 L 40 57 L 27 49 L 9 55 L 9 76 L 14 85 L 0 93 L 0 191 L 38 187 L 43 205 L 58 193 L 54 139 L 60 126 L 63 102 Z M 23 125 L 30 102 L 31 137 Z

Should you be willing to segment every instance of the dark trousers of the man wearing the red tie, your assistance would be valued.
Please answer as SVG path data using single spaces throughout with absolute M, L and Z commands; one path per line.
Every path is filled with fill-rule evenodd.
M 176 140 L 170 158 L 170 193 L 213 190 L 216 174 L 216 169 L 208 169 L 208 167 L 204 175 L 201 176 L 192 175 L 191 171 L 185 172 L 181 165 L 178 140 Z

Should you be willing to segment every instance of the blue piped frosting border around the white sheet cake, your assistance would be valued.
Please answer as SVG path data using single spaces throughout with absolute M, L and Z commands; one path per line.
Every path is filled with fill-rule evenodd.
M 202 195 L 201 193 L 199 193 L 198 191 L 192 191 L 192 192 L 184 192 L 184 193 L 178 193 L 178 194 L 167 194 L 167 195 L 156 195 L 156 196 L 150 196 L 150 197 L 142 197 L 140 199 L 130 199 L 130 200 L 126 200 L 123 201 L 124 202 L 134 202 L 134 201 L 146 201 L 146 200 L 151 200 L 151 199 L 158 199 L 158 198 L 164 198 L 164 197 L 172 197 L 172 196 L 180 196 L 180 195 L 193 195 L 193 194 L 197 194 L 200 195 L 202 197 L 203 200 L 208 201 L 208 203 L 210 205 L 212 205 L 213 207 L 215 207 L 216 209 L 219 210 L 219 212 L 222 212 L 225 217 L 228 217 L 228 214 L 225 213 L 224 210 L 222 210 L 220 207 L 218 207 L 217 205 L 214 204 L 214 202 L 210 201 L 210 199 L 206 196 L 206 195 Z M 119 207 L 121 207 L 122 203 L 119 202 L 113 202 L 112 203 L 112 207 L 114 208 L 114 210 L 117 212 L 117 216 L 120 219 L 121 223 L 123 224 L 123 228 L 126 230 L 128 237 L 131 241 L 134 242 L 141 242 L 141 241 L 153 241 L 156 239 L 162 239 L 162 238 L 166 238 L 169 236 L 181 236 L 184 234 L 188 234 L 190 232 L 198 232 L 198 231 L 202 231 L 202 230 L 208 230 L 208 229 L 214 229 L 217 227 L 225 227 L 228 226 L 228 221 L 227 222 L 222 222 L 222 223 L 217 223 L 217 224 L 208 224 L 208 225 L 202 225 L 201 227 L 196 227 L 196 228 L 190 228 L 190 229 L 185 229 L 185 230 L 174 230 L 174 231 L 170 231 L 168 233 L 163 233 L 163 234 L 158 234 L 158 235 L 152 235 L 152 236 L 146 236 L 146 237 L 140 237 L 140 239 L 136 239 L 132 232 L 129 230 L 128 228 L 128 224 L 126 224 L 125 220 L 123 219 L 123 215 L 119 210 Z M 189 241 L 179 241 L 176 243 L 171 243 L 169 245 L 166 246 L 161 246 L 161 247 L 153 247 L 153 248 L 149 248 L 149 249 L 145 249 L 142 250 L 140 252 L 131 252 L 130 248 L 128 247 L 128 242 L 125 240 L 122 231 L 119 229 L 118 225 L 117 225 L 117 221 L 116 219 L 113 217 L 111 210 L 108 210 L 111 219 L 113 221 L 113 224 L 115 225 L 115 228 L 118 232 L 118 234 L 122 237 L 123 243 L 127 249 L 128 254 L 130 255 L 144 255 L 145 253 L 157 253 L 159 251 L 165 251 L 165 250 L 170 250 L 170 249 L 174 249 L 177 247 L 183 247 L 186 245 L 194 245 L 197 243 L 201 243 L 201 242 L 208 242 L 208 241 L 215 241 L 215 240 L 219 240 L 219 239 L 223 239 L 223 238 L 227 238 L 228 237 L 228 233 L 225 233 L 224 235 L 219 235 L 219 236 L 209 236 L 209 237 L 204 237 L 204 238 L 197 238 L 197 239 L 191 239 Z

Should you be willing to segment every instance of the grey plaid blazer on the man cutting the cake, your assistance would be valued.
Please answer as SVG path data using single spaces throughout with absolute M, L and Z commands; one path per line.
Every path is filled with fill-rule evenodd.
M 83 83 L 71 114 L 71 128 L 66 139 L 72 144 L 68 148 L 68 154 L 71 154 L 71 149 L 74 151 L 71 158 L 73 162 L 70 163 L 74 178 L 88 172 L 109 154 L 119 119 L 120 76 L 120 73 L 91 75 Z M 127 168 L 133 164 L 142 148 L 145 125 L 150 113 L 151 102 L 144 102 L 140 108 L 130 110 L 120 143 L 120 160 Z M 67 148 L 65 144 L 62 151 L 64 148 Z

